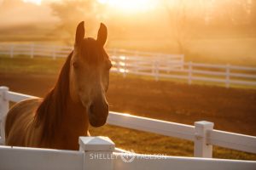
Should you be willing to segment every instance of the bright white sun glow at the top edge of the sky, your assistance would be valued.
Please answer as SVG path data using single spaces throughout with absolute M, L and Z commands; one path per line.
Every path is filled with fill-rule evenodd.
M 158 0 L 97 0 L 99 3 L 106 4 L 109 8 L 119 10 L 124 13 L 145 12 L 154 9 Z

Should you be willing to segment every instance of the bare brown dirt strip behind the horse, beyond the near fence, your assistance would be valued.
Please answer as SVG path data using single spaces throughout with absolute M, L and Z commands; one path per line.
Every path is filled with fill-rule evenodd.
M 44 97 L 56 77 L 0 72 L 0 85 Z M 215 129 L 256 136 L 256 90 L 111 75 L 108 102 L 111 111 L 185 124 L 205 120 L 214 122 Z

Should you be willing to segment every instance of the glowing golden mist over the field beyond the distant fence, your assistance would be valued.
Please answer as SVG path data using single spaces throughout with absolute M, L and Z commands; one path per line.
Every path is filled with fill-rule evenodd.
M 72 45 L 75 28 L 84 20 L 87 37 L 96 37 L 101 22 L 108 26 L 109 48 L 185 54 L 188 60 L 222 64 L 247 65 L 246 58 L 256 65 L 254 1 L 161 0 L 147 10 L 95 0 L 0 4 L 3 42 Z

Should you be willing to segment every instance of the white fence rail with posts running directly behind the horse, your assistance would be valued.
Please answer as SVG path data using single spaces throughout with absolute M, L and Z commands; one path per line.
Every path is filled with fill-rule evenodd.
M 9 101 L 19 102 L 23 99 L 35 99 L 37 97 L 10 92 L 9 88 L 0 87 L 0 118 L 7 114 Z M 229 133 L 213 129 L 212 122 L 195 122 L 195 126 L 176 122 L 166 122 L 142 116 L 110 111 L 108 124 L 119 127 L 128 127 L 150 133 L 187 139 L 195 142 L 195 156 L 212 157 L 212 144 L 241 150 L 256 154 L 256 137 L 239 133 Z M 3 135 L 1 135 L 3 137 Z

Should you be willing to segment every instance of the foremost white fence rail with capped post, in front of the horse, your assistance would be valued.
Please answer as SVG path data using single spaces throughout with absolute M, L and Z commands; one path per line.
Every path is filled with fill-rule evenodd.
M 80 150 L 0 146 L 0 169 L 9 170 L 254 170 L 256 161 L 117 153 L 108 138 L 80 137 Z M 92 149 L 92 146 L 93 148 Z M 107 146 L 107 147 L 106 147 Z

